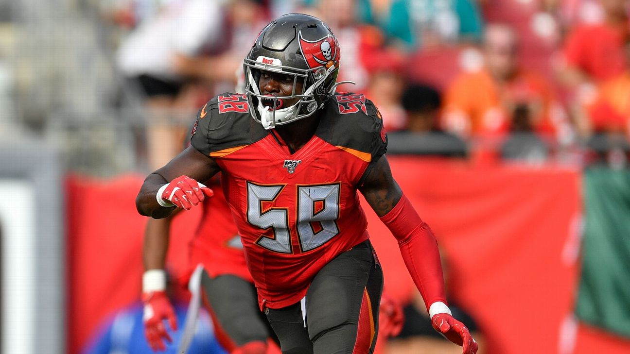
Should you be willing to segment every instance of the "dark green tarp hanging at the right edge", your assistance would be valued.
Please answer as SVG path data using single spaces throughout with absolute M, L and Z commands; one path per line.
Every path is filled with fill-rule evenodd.
M 630 338 L 630 171 L 584 173 L 585 228 L 576 316 Z

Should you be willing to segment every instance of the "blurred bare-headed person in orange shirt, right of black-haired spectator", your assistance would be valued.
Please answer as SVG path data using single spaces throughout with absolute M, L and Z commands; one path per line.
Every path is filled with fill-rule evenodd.
M 510 26 L 487 26 L 484 67 L 462 73 L 447 88 L 442 120 L 445 130 L 464 138 L 501 137 L 511 130 L 556 131 L 558 123 L 552 122 L 550 114 L 554 106 L 551 88 L 542 76 L 518 66 L 517 44 Z M 517 111 L 527 112 L 526 122 L 513 120 Z

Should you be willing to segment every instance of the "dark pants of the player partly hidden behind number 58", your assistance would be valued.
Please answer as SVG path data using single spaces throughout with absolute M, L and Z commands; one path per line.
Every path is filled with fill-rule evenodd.
M 256 288 L 235 275 L 202 275 L 203 304 L 210 311 L 217 340 L 228 352 L 251 341 L 275 338 L 258 307 Z

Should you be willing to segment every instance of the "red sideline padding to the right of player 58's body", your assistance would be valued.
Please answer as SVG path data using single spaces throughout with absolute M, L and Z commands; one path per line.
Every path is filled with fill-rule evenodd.
M 450 295 L 486 334 L 487 352 L 557 353 L 576 282 L 579 175 L 390 157 L 394 178 L 448 254 Z M 411 288 L 394 237 L 368 212 L 385 287 Z M 417 291 L 417 290 L 415 290 Z

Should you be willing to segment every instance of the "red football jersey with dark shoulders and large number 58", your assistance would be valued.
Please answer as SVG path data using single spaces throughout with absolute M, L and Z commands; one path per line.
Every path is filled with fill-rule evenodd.
M 386 150 L 380 114 L 360 94 L 336 94 L 324 110 L 294 154 L 251 118 L 244 95 L 217 96 L 193 129 L 192 146 L 221 166 L 261 307 L 295 304 L 328 261 L 369 237 L 357 188 Z

